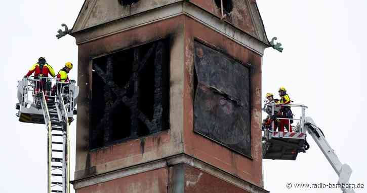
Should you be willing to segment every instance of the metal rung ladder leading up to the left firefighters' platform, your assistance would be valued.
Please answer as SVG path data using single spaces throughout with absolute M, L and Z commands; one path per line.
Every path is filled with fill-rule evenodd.
M 42 92 L 43 93 L 43 92 Z M 69 121 L 62 94 L 45 98 L 41 106 L 48 130 L 48 192 L 69 193 Z

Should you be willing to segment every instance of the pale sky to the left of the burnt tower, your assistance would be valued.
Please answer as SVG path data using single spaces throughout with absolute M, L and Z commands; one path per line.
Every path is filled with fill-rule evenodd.
M 55 35 L 61 23 L 72 27 L 83 5 L 82 0 L 64 1 L 7 1 L 0 11 L 0 31 L 3 70 L 0 95 L 3 110 L 2 149 L 0 158 L 0 192 L 46 192 L 47 188 L 47 138 L 44 125 L 18 122 L 15 116 L 17 81 L 37 62 L 46 57 L 58 71 L 65 62 L 77 63 L 75 39 Z M 76 68 L 69 73 L 76 79 Z M 75 122 L 70 128 L 71 176 L 75 168 Z M 71 188 L 72 189 L 72 188 Z M 72 189 L 73 190 L 73 189 Z M 74 192 L 74 191 L 72 191 Z

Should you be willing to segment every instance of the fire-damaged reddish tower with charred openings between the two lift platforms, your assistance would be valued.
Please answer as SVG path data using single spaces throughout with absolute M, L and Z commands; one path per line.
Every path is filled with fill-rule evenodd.
M 268 192 L 254 0 L 86 0 L 78 193 Z

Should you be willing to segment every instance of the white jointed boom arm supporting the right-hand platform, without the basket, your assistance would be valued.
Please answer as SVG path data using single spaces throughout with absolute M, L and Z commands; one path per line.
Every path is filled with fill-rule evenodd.
M 329 163 L 338 174 L 338 184 L 341 185 L 343 193 L 354 193 L 354 190 L 352 190 L 350 187 L 347 188 L 349 186 L 350 175 L 352 174 L 352 169 L 350 166 L 340 162 L 338 156 L 334 152 L 334 149 L 331 148 L 330 144 L 323 136 L 321 130 L 316 126 L 310 117 L 306 117 L 305 119 L 305 129 L 312 136 L 313 140 L 315 140 L 325 158 L 328 159 Z

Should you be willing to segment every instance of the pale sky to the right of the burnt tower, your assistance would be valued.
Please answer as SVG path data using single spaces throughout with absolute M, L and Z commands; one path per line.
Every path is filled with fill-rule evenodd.
M 366 1 L 258 0 L 270 39 L 277 36 L 283 53 L 267 49 L 262 92 L 284 86 L 295 103 L 323 130 L 352 183 L 367 185 L 364 72 L 367 58 Z M 287 189 L 286 183 L 337 183 L 338 177 L 321 151 L 311 147 L 297 161 L 264 160 L 265 188 L 272 192 L 341 192 L 339 189 Z M 356 192 L 365 192 L 356 190 Z

